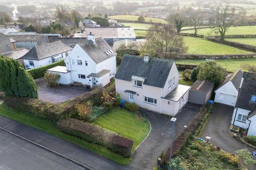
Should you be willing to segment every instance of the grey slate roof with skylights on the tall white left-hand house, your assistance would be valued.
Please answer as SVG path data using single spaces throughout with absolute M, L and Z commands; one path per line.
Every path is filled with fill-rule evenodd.
M 96 38 L 95 43 L 93 43 L 92 40 L 89 40 L 86 43 L 79 43 L 78 45 L 97 64 L 116 55 L 116 52 L 113 51 L 113 49 L 103 38 Z M 107 52 L 108 50 L 112 50 L 114 53 L 111 55 L 107 55 L 105 52 Z

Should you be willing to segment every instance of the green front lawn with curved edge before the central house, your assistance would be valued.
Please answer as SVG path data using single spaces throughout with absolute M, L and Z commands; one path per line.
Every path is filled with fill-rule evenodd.
M 133 140 L 133 151 L 145 139 L 150 130 L 147 119 L 140 118 L 123 108 L 114 108 L 99 116 L 93 123 Z

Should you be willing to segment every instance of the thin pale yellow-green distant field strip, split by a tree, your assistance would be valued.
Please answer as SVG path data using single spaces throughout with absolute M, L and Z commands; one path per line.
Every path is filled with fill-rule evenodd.
M 139 16 L 137 16 L 137 15 L 113 15 L 113 16 L 109 16 L 109 18 L 113 18 L 113 19 L 116 19 L 116 20 L 127 20 L 127 21 L 138 21 L 138 17 Z M 163 19 L 148 18 L 148 17 L 145 17 L 145 21 L 146 22 L 155 22 L 155 23 L 167 23 Z

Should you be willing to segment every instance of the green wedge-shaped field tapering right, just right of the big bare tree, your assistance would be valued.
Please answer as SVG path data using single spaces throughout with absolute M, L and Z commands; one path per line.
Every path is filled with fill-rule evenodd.
M 222 45 L 218 43 L 213 43 L 212 41 L 207 41 L 204 38 L 196 37 L 184 37 L 184 41 L 188 46 L 188 54 L 248 54 L 251 52 L 246 52 L 244 50 L 230 47 L 227 45 Z

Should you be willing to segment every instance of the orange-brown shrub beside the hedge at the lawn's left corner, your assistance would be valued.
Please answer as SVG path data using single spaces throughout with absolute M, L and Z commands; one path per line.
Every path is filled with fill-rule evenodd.
M 92 112 L 92 106 L 91 101 L 87 101 L 85 104 L 76 104 L 75 108 L 79 118 L 82 120 L 89 120 Z

